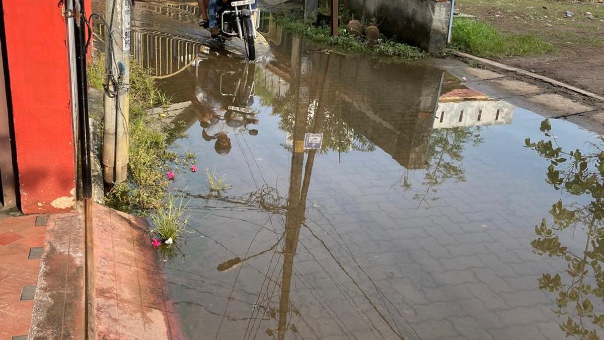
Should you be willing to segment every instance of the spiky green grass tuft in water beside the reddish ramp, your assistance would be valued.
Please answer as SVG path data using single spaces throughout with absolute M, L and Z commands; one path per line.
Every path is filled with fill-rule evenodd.
M 183 199 L 182 195 L 176 197 L 170 194 L 166 204 L 151 215 L 153 227 L 149 231 L 161 241 L 160 244 L 172 244 L 184 232 L 188 215 L 185 215 L 187 203 L 183 204 Z M 155 246 L 156 243 L 154 240 L 153 245 Z

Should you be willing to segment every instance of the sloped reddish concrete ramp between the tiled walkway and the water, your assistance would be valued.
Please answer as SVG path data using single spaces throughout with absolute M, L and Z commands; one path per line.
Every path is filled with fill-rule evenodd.
M 95 205 L 98 339 L 184 339 L 147 223 Z

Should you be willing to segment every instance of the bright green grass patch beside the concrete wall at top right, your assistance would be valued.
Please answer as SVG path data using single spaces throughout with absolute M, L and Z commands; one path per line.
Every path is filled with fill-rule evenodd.
M 455 48 L 480 57 L 510 57 L 550 53 L 554 46 L 533 34 L 501 33 L 493 25 L 472 19 L 453 22 Z

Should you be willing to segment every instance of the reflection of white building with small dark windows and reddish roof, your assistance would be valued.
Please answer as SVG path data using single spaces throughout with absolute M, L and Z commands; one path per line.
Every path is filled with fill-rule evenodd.
M 477 91 L 461 88 L 442 94 L 434 128 L 511 124 L 514 109 L 503 100 L 492 100 Z

